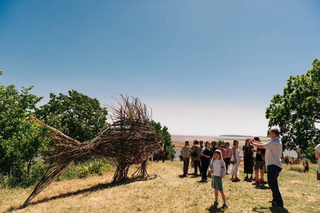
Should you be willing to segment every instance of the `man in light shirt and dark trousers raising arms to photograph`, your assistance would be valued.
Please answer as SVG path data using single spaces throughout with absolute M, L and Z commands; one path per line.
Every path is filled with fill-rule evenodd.
M 268 143 L 261 143 L 254 139 L 251 139 L 250 142 L 252 145 L 260 149 L 266 149 L 266 166 L 267 166 L 267 177 L 268 184 L 272 191 L 272 203 L 273 206 L 283 207 L 283 200 L 279 191 L 278 186 L 278 176 L 282 170 L 282 143 L 279 139 L 280 132 L 277 128 L 271 128 L 269 130 L 269 135 L 271 141 Z

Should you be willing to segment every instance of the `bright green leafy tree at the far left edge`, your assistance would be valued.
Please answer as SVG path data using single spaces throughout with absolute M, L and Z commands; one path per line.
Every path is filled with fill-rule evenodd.
M 43 97 L 30 93 L 34 86 L 22 87 L 21 93 L 15 87 L 0 84 L 0 174 L 19 182 L 48 141 L 41 135 L 42 127 L 28 119 Z

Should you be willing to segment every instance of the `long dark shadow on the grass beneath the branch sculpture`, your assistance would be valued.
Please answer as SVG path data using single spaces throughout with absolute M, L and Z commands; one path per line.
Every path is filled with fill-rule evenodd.
M 150 176 L 150 177 L 131 177 L 131 178 L 127 178 L 124 182 L 122 183 L 105 183 L 105 184 L 98 184 L 98 185 L 95 185 L 95 186 L 92 186 L 90 188 L 86 188 L 86 189 L 81 189 L 81 190 L 77 190 L 77 191 L 74 191 L 74 192 L 68 192 L 68 193 L 62 193 L 62 194 L 59 194 L 59 195 L 56 195 L 56 196 L 52 196 L 50 198 L 46 197 L 44 199 L 41 199 L 41 200 L 38 200 L 36 202 L 30 202 L 28 205 L 36 205 L 38 203 L 44 203 L 44 202 L 48 202 L 48 201 L 52 201 L 52 200 L 56 200 L 56 199 L 60 199 L 60 198 L 66 198 L 66 197 L 70 197 L 70 196 L 74 196 L 74 195 L 78 195 L 78 194 L 84 194 L 84 193 L 87 193 L 87 194 L 90 194 L 90 193 L 93 193 L 93 192 L 96 192 L 96 191 L 99 191 L 101 189 L 108 189 L 108 188 L 111 188 L 111 187 L 114 187 L 114 186 L 119 186 L 119 185 L 124 185 L 124 184 L 130 184 L 130 183 L 133 183 L 133 182 L 137 182 L 137 181 L 147 181 L 147 180 L 152 180 L 152 179 L 155 179 L 157 177 L 157 175 L 154 175 L 154 176 Z M 27 206 L 28 206 L 27 205 Z M 24 209 L 24 207 L 20 206 L 18 208 L 10 208 L 6 211 L 4 211 L 3 213 L 6 213 L 6 212 L 11 212 L 13 210 L 17 210 L 17 209 Z

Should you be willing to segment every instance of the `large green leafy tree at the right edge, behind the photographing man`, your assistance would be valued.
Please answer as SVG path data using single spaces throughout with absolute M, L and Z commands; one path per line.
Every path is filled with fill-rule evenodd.
M 320 123 L 319 109 L 320 61 L 315 59 L 307 73 L 289 77 L 283 94 L 274 95 L 266 110 L 268 126 L 280 127 L 283 149 L 310 156 L 308 150 L 320 141 L 315 125 Z M 310 160 L 315 158 L 310 156 Z

